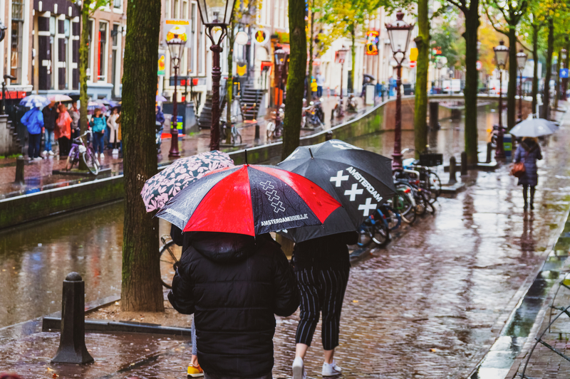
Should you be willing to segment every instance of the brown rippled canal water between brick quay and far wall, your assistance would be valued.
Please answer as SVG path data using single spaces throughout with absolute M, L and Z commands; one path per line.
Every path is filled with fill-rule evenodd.
M 479 135 L 485 144 L 497 113 L 480 109 Z M 429 136 L 430 146 L 444 154 L 444 161 L 451 155 L 459 158 L 463 150 L 463 120 L 440 120 L 440 131 Z M 347 142 L 390 156 L 393 138 L 393 132 L 384 132 Z M 413 147 L 413 131 L 403 132 L 402 146 Z M 119 295 L 123 210 L 120 201 L 0 233 L 0 327 L 60 311 L 62 281 L 72 271 L 86 282 L 86 301 Z M 169 231 L 161 220 L 160 235 Z

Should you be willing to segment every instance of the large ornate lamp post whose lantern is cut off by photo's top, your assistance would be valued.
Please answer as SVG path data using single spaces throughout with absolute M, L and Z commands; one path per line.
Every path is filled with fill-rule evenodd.
M 198 0 L 200 19 L 206 27 L 206 36 L 212 41 L 212 125 L 209 134 L 209 149 L 219 150 L 219 80 L 222 71 L 219 67 L 220 44 L 227 34 L 227 26 L 232 22 L 235 0 Z M 215 30 L 214 30 L 215 29 Z M 212 31 L 219 33 L 212 33 Z

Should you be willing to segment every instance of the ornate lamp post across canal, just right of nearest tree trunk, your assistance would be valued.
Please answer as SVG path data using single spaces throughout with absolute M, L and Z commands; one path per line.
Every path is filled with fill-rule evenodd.
M 180 151 L 178 151 L 178 100 L 177 100 L 177 86 L 178 86 L 178 69 L 180 68 L 180 57 L 182 57 L 182 52 L 186 46 L 186 29 L 184 26 L 175 26 L 170 29 L 167 34 L 166 44 L 168 50 L 170 51 L 170 59 L 172 60 L 172 68 L 174 68 L 174 94 L 172 95 L 172 122 L 170 123 L 170 134 L 172 134 L 172 139 L 170 139 L 170 151 L 168 151 L 168 156 L 179 157 Z

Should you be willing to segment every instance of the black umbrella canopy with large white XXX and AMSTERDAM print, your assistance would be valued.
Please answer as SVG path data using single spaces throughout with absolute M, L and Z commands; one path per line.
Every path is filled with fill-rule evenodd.
M 343 205 L 322 227 L 287 230 L 295 242 L 354 231 L 395 193 L 391 159 L 338 139 L 298 147 L 277 166 L 309 178 Z

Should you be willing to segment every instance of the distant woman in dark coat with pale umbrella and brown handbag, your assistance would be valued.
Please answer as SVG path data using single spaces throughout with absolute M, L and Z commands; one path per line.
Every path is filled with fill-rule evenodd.
M 558 127 L 554 122 L 532 118 L 519 122 L 511 129 L 511 134 L 522 137 L 522 142 L 517 146 L 517 151 L 514 152 L 512 174 L 519 178 L 517 186 L 522 186 L 524 212 L 529 207 L 529 202 L 527 201 L 529 188 L 530 209 L 534 210 L 534 192 L 539 181 L 537 160 L 542 159 L 538 137 L 553 134 L 557 129 Z

